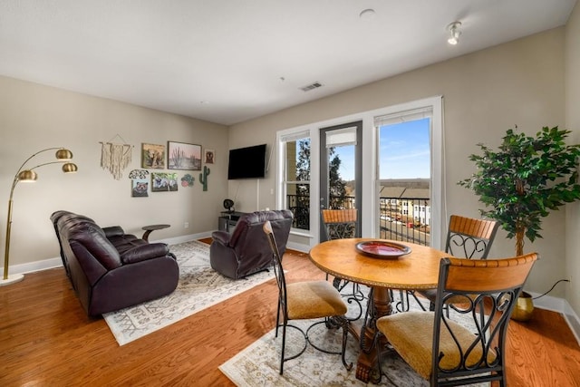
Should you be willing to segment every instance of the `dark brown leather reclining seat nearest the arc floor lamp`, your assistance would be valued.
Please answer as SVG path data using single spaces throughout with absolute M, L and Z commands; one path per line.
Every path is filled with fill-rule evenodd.
M 99 227 L 68 211 L 51 216 L 66 274 L 88 315 L 169 295 L 179 266 L 164 243 L 148 243 L 119 226 Z

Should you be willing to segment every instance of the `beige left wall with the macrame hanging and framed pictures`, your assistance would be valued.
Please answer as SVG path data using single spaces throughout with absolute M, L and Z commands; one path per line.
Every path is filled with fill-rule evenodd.
M 34 184 L 20 183 L 14 190 L 10 247 L 14 270 L 19 265 L 59 256 L 49 218 L 58 209 L 81 213 L 101 226 L 121 225 L 138 236 L 142 226 L 171 225 L 153 232 L 151 240 L 204 234 L 218 227 L 218 213 L 227 192 L 225 126 L 0 77 L 0 131 L 3 247 L 10 186 L 24 160 L 38 150 L 63 146 L 73 150 L 73 161 L 79 167 L 73 175 L 63 174 L 58 165 L 41 167 Z M 113 179 L 100 166 L 100 141 L 109 141 L 117 134 L 134 146 L 131 165 L 121 180 Z M 141 143 L 167 146 L 168 140 L 216 150 L 217 161 L 209 165 L 208 191 L 202 190 L 199 171 L 188 171 L 196 179 L 193 188 L 179 186 L 177 192 L 150 192 L 149 198 L 131 198 L 128 174 L 131 169 L 140 169 Z M 47 151 L 38 155 L 30 167 L 52 160 L 53 151 Z M 171 171 L 177 171 L 179 179 L 186 173 Z M 187 229 L 185 222 L 189 222 Z

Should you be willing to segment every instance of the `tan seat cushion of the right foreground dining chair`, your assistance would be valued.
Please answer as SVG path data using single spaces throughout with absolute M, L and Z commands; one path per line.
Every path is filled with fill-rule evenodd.
M 477 340 L 469 329 L 448 320 L 449 326 L 456 335 L 461 348 L 465 351 Z M 433 346 L 434 313 L 405 312 L 391 314 L 377 320 L 377 328 L 387 337 L 393 348 L 423 378 L 429 380 L 431 374 L 431 353 Z M 451 338 L 449 331 L 441 327 L 440 353 L 444 353 L 440 368 L 454 369 L 458 366 L 461 354 Z M 474 365 L 483 356 L 481 348 L 476 346 L 469 354 L 467 365 Z M 493 362 L 495 353 L 489 352 L 488 362 Z

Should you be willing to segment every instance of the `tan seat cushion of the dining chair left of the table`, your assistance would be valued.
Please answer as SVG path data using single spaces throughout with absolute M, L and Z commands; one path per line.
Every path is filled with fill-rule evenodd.
M 346 313 L 346 304 L 326 281 L 295 282 L 286 285 L 288 319 L 304 320 Z

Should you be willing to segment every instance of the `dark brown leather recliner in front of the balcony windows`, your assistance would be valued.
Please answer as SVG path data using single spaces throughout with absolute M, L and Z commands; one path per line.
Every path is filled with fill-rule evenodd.
M 240 217 L 231 234 L 214 231 L 211 235 L 214 240 L 209 248 L 211 267 L 234 279 L 266 270 L 272 266 L 272 250 L 262 226 L 266 220 L 270 221 L 282 256 L 290 235 L 292 217 L 292 212 L 287 209 L 256 211 Z

